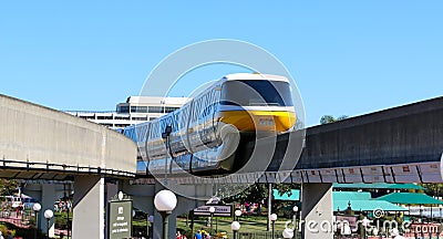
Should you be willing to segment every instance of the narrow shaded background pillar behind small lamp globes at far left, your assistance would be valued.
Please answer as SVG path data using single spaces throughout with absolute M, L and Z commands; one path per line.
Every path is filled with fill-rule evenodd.
M 42 185 L 42 194 L 41 194 L 41 210 L 39 211 L 39 228 L 43 233 L 48 231 L 48 220 L 44 218 L 44 211 L 47 209 L 51 209 L 54 212 L 54 202 L 55 202 L 55 185 L 54 184 L 43 184 Z M 49 237 L 53 238 L 55 232 L 54 228 L 54 217 L 49 221 Z

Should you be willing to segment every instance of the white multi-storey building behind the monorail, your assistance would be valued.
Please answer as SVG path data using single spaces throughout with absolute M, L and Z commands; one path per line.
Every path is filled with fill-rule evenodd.
M 120 103 L 116 111 L 66 113 L 104 125 L 112 129 L 152 121 L 184 105 L 188 97 L 130 96 L 125 103 Z

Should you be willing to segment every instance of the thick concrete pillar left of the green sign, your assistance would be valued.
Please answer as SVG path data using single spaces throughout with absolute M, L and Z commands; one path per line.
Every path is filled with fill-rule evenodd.
M 104 239 L 104 178 L 74 178 L 72 238 Z

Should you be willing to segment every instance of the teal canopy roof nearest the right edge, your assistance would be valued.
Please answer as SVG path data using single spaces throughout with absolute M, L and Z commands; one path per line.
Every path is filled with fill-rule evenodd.
M 387 200 L 392 204 L 403 204 L 403 205 L 443 205 L 443 201 L 430 197 L 425 194 L 414 194 L 414 193 L 392 193 L 375 198 L 375 200 Z

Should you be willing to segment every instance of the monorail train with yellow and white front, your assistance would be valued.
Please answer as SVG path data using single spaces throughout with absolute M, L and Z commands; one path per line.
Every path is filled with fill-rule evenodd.
M 245 141 L 291 131 L 296 121 L 288 79 L 237 73 L 123 134 L 137 144 L 140 164 L 151 174 L 226 174 L 246 163 L 236 154 Z

